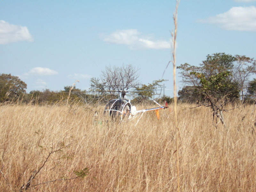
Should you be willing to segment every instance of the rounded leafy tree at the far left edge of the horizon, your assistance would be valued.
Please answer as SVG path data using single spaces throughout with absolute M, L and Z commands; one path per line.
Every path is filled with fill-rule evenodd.
M 27 84 L 11 74 L 0 75 L 0 102 L 15 100 L 26 93 Z

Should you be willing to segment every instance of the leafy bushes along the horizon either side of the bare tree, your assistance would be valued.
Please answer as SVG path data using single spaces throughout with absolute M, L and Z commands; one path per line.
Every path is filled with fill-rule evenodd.
M 129 65 L 130 66 L 130 65 Z M 128 69 L 129 69 L 128 66 Z M 124 67 L 124 66 L 123 66 Z M 131 70 L 131 68 L 129 69 Z M 128 70 L 128 72 L 129 72 Z M 126 69 L 124 70 L 126 71 Z M 127 71 L 126 71 L 127 72 Z M 130 75 L 134 75 L 131 73 Z M 161 82 L 166 80 L 156 80 L 153 81 L 152 84 L 145 85 L 142 87 L 137 85 L 136 90 L 138 91 L 132 96 L 135 96 L 136 101 L 149 100 L 157 95 L 154 89 L 161 87 Z M 21 81 L 18 77 L 12 76 L 11 74 L 1 74 L 0 75 L 0 102 L 4 101 L 15 101 L 20 96 L 22 96 L 23 103 L 30 104 L 56 104 L 58 102 L 66 102 L 67 104 L 71 104 L 74 102 L 78 102 L 80 104 L 96 104 L 96 103 L 106 103 L 110 99 L 119 98 L 119 94 L 108 94 L 106 82 L 103 82 L 99 78 L 91 78 L 91 88 L 90 91 L 92 93 L 87 93 L 86 90 L 81 90 L 76 88 L 75 84 L 72 86 L 65 86 L 62 91 L 51 91 L 50 89 L 43 90 L 32 90 L 29 93 L 26 93 L 27 84 Z M 127 86 L 128 87 L 128 86 Z M 118 88 L 119 89 L 119 88 Z M 118 90 L 117 89 L 117 90 Z M 121 89 L 122 90 L 122 89 Z M 149 91 L 144 91 L 149 90 Z M 95 92 L 93 92 L 95 91 Z M 108 90 L 109 91 L 109 90 Z M 97 94 L 96 94 L 97 93 Z M 126 92 L 125 92 L 126 93 Z M 123 95 L 124 96 L 124 95 Z M 169 103 L 171 102 L 170 97 L 165 97 L 165 100 Z

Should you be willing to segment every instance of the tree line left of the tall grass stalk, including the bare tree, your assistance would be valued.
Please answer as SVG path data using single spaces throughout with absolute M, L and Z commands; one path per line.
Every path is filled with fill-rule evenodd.
M 160 93 L 156 93 L 155 89 L 162 89 L 162 82 L 167 80 L 159 79 L 152 83 L 140 84 L 139 68 L 129 65 L 106 66 L 105 70 L 101 71 L 99 78 L 92 77 L 90 79 L 89 90 L 81 90 L 76 88 L 76 85 L 65 86 L 64 90 L 51 91 L 44 89 L 42 91 L 32 90 L 26 92 L 27 84 L 17 76 L 11 74 L 0 75 L 0 102 L 13 102 L 22 100 L 24 103 L 57 103 L 60 101 L 80 102 L 85 104 L 95 104 L 99 102 L 106 103 L 108 100 L 115 98 L 124 98 L 126 95 L 133 98 L 133 102 L 147 102 L 150 99 L 155 99 Z M 128 90 L 135 92 L 127 92 Z M 171 102 L 169 96 L 157 98 L 160 101 L 166 100 Z

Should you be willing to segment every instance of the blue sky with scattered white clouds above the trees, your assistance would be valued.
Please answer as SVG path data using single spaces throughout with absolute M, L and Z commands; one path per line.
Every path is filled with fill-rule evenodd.
M 27 92 L 76 80 L 88 90 L 101 69 L 124 63 L 151 83 L 172 60 L 175 3 L 0 0 L 0 73 L 19 76 Z M 181 0 L 177 35 L 177 65 L 199 65 L 216 52 L 256 57 L 256 0 Z M 163 78 L 173 89 L 172 66 Z

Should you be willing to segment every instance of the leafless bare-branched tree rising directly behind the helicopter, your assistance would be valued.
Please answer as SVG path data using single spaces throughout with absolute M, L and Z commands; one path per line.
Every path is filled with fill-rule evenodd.
M 132 87 L 136 87 L 140 84 L 139 78 L 140 68 L 136 68 L 129 65 L 118 66 L 106 66 L 105 70 L 101 71 L 101 81 L 105 83 L 106 89 L 115 95 L 118 92 L 122 93 L 122 98 L 126 95 L 126 91 Z

